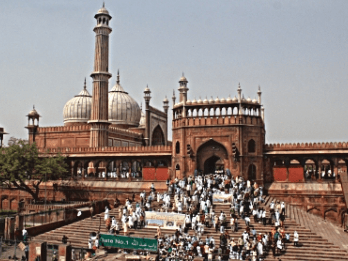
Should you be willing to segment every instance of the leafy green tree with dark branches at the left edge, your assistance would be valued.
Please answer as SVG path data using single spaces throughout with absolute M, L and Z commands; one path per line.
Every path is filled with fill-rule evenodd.
M 67 176 L 65 157 L 40 154 L 36 143 L 10 138 L 9 146 L 0 148 L 0 185 L 26 191 L 35 200 L 43 181 Z

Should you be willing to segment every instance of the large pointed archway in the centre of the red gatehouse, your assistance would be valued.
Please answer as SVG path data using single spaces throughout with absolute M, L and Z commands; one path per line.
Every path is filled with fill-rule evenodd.
M 200 145 L 197 150 L 197 169 L 204 174 L 215 173 L 216 166 L 219 170 L 224 169 L 224 160 L 227 159 L 226 148 L 221 143 L 211 139 Z

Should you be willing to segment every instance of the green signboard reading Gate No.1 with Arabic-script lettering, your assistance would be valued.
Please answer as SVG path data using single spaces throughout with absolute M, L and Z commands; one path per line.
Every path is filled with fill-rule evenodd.
M 100 234 L 99 245 L 157 252 L 157 239 L 150 238 Z

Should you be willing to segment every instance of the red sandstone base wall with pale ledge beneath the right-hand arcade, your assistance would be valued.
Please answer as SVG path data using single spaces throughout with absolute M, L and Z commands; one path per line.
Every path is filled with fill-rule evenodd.
M 266 183 L 265 193 L 337 224 L 344 221 L 347 208 L 339 182 Z

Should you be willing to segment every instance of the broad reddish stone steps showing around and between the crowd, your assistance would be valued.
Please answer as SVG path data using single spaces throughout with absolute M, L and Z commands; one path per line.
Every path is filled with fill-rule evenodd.
M 273 200 L 272 197 L 265 197 L 264 203 L 261 204 L 261 207 L 264 207 L 267 213 L 269 213 L 268 206 L 271 200 Z M 174 200 L 172 197 L 172 202 L 173 201 Z M 155 209 L 159 208 L 159 204 L 157 203 L 157 201 L 154 201 L 152 205 Z M 135 207 L 135 203 L 133 203 L 133 206 Z M 223 211 L 224 213 L 226 213 L 226 215 L 229 215 L 229 204 L 215 204 L 214 210 L 216 214 L 219 214 L 220 211 Z M 112 209 L 109 212 L 109 214 L 110 216 L 115 216 L 118 219 L 118 209 Z M 335 231 L 335 227 L 331 227 L 331 229 L 327 229 L 326 227 L 319 229 L 314 226 L 315 223 L 313 222 L 313 220 L 315 220 L 315 216 L 310 215 L 308 213 L 304 213 L 301 209 L 297 207 L 286 205 L 286 218 L 284 221 L 284 229 L 286 232 L 290 233 L 291 243 L 287 244 L 286 252 L 283 252 L 276 258 L 280 258 L 282 259 L 282 261 L 348 260 L 348 254 L 344 250 L 343 246 L 335 244 L 335 242 L 333 240 L 330 240 L 330 238 L 329 240 L 326 239 L 325 235 L 337 234 L 337 232 Z M 325 223 L 327 223 L 328 226 L 334 226 L 330 225 L 331 223 L 329 222 Z M 262 234 L 269 232 L 272 229 L 270 225 L 263 226 L 263 224 L 261 223 L 255 223 L 253 221 L 253 218 L 251 218 L 250 226 L 254 227 L 257 233 L 261 232 Z M 230 227 L 227 227 L 231 238 L 237 239 L 241 236 L 242 232 L 246 228 L 244 220 L 238 219 L 238 228 L 239 230 L 237 232 L 231 232 Z M 65 235 L 66 237 L 68 237 L 68 242 L 70 242 L 73 247 L 87 248 L 89 233 L 97 232 L 98 230 L 100 230 L 100 233 L 102 234 L 108 232 L 106 231 L 104 223 L 104 213 L 95 215 L 93 219 L 87 218 L 69 224 L 67 226 L 46 232 L 44 234 L 34 237 L 34 239 L 44 240 L 48 244 L 58 244 L 61 243 L 62 237 L 63 235 Z M 295 230 L 298 232 L 300 236 L 299 247 L 295 247 L 292 243 L 293 234 Z M 130 236 L 153 238 L 157 231 L 155 228 L 142 228 L 138 230 L 130 229 L 129 232 Z M 173 232 L 174 230 L 172 229 L 162 229 L 162 234 L 164 235 L 172 235 Z M 190 235 L 193 235 L 193 233 L 193 230 L 189 230 Z M 346 234 L 342 235 L 346 236 Z M 213 227 L 206 227 L 204 235 L 202 237 L 205 238 L 205 236 L 213 236 L 216 242 L 216 246 L 219 246 L 219 231 L 216 232 Z M 348 236 L 347 241 L 345 242 L 348 243 Z M 342 240 L 342 244 L 344 244 L 345 242 L 343 242 Z M 264 260 L 274 260 L 271 251 L 266 253 L 266 258 Z

